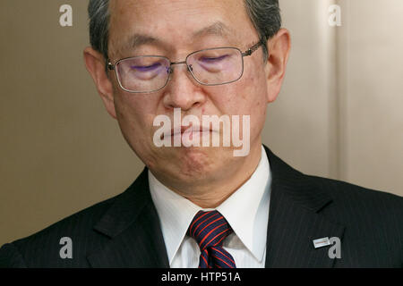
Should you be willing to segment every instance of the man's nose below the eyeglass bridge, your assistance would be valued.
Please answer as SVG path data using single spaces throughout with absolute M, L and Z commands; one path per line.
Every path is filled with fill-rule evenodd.
M 187 111 L 205 102 L 206 97 L 200 85 L 193 79 L 191 69 L 192 67 L 187 67 L 186 64 L 171 67 L 163 98 L 168 109 L 181 108 Z

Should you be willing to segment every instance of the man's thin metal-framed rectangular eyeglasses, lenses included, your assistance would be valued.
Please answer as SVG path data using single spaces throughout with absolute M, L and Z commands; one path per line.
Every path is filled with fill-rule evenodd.
M 132 93 L 150 93 L 165 88 L 173 65 L 186 64 L 193 79 L 205 86 L 217 86 L 239 80 L 244 73 L 244 56 L 252 55 L 260 40 L 245 52 L 237 47 L 213 47 L 193 52 L 182 62 L 171 62 L 160 55 L 140 55 L 107 60 L 107 68 L 115 71 L 120 88 Z

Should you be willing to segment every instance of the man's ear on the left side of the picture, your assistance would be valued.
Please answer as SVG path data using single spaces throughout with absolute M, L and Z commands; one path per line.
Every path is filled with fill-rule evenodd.
M 107 113 L 116 119 L 113 85 L 105 71 L 104 56 L 88 46 L 84 49 L 84 62 L 98 89 L 99 96 L 107 108 Z

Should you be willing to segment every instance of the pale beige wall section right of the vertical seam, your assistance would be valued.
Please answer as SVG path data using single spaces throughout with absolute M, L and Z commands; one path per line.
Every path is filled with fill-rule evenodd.
M 403 1 L 340 1 L 341 178 L 403 196 Z

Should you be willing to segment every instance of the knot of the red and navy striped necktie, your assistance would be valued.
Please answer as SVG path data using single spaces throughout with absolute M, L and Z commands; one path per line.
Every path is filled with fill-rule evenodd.
M 231 226 L 219 211 L 199 211 L 187 230 L 201 251 L 205 248 L 221 246 L 223 240 L 232 232 Z

